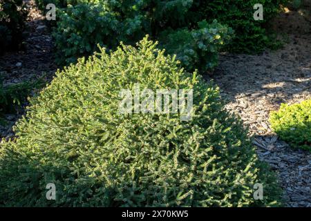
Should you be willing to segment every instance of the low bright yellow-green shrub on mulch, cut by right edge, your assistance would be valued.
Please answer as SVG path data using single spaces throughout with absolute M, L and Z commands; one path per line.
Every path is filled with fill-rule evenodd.
M 270 114 L 273 130 L 294 148 L 311 151 L 311 99 L 301 104 L 281 104 Z

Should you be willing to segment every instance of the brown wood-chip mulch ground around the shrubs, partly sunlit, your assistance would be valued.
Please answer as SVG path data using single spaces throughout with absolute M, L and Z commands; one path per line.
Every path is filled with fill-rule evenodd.
M 26 50 L 1 57 L 5 84 L 42 76 L 48 82 L 57 69 L 53 39 L 44 16 L 33 0 L 26 3 L 30 7 Z M 285 11 L 274 20 L 274 29 L 287 37 L 288 44 L 283 49 L 266 50 L 261 55 L 223 53 L 213 76 L 205 76 L 214 79 L 227 101 L 226 108 L 239 115 L 249 128 L 259 158 L 278 173 L 286 206 L 311 206 L 311 153 L 290 148 L 279 140 L 268 119 L 281 103 L 295 104 L 311 98 L 311 17 L 303 12 Z M 27 102 L 23 107 L 26 105 Z M 0 140 L 14 136 L 12 126 L 23 114 L 24 110 L 5 115 L 5 122 L 0 124 Z

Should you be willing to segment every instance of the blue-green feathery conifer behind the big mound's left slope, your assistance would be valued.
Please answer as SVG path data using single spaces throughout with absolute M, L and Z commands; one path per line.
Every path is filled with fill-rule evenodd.
M 109 49 L 115 49 L 120 41 L 135 44 L 150 30 L 144 14 L 134 9 L 135 1 L 78 2 L 57 12 L 53 36 L 61 64 L 91 55 L 97 44 Z

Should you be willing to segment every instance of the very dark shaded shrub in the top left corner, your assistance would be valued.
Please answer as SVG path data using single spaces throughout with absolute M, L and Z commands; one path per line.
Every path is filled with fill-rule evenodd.
M 21 48 L 26 15 L 23 0 L 0 0 L 0 55 Z

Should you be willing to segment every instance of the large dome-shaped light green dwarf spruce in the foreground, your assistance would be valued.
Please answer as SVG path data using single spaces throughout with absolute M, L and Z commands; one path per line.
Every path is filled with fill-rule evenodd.
M 120 91 L 193 89 L 194 114 L 121 114 Z M 274 206 L 279 187 L 219 90 L 144 38 L 70 65 L 0 148 L 5 206 Z M 47 184 L 56 200 L 46 200 Z M 263 200 L 254 200 L 254 184 Z

